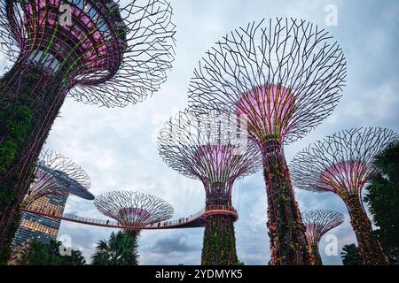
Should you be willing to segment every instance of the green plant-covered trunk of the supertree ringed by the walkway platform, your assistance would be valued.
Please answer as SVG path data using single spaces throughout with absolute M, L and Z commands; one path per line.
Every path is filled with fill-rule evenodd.
M 216 184 L 207 196 L 207 210 L 215 205 L 230 205 L 225 187 Z M 201 256 L 202 265 L 237 265 L 234 219 L 229 215 L 209 215 L 205 221 L 204 243 Z

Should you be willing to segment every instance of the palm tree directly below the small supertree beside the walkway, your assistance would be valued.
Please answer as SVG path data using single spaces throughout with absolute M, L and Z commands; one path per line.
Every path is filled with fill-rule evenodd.
M 137 265 L 137 237 L 128 232 L 111 233 L 108 241 L 98 241 L 96 252 L 91 256 L 93 265 Z

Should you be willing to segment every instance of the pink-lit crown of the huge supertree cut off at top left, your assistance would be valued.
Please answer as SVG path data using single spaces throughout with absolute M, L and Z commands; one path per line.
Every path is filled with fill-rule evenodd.
M 2 0 L 0 50 L 59 76 L 77 101 L 124 106 L 166 80 L 171 15 L 164 0 Z

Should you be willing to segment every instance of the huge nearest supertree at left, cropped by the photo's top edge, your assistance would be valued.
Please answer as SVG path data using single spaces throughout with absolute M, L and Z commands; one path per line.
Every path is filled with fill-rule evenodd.
M 171 15 L 165 0 L 0 0 L 0 50 L 14 62 L 0 79 L 0 230 L 67 95 L 114 107 L 159 89 L 174 55 Z

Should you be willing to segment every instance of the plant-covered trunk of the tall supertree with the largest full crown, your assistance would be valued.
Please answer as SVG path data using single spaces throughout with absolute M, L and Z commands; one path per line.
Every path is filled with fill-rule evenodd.
M 270 264 L 313 264 L 283 149 L 270 143 L 263 146 L 262 153 L 268 197 Z

